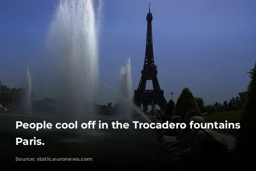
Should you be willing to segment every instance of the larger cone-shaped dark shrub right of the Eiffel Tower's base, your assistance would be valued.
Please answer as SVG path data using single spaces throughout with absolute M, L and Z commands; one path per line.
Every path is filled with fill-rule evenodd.
M 177 100 L 174 115 L 180 116 L 181 122 L 184 122 L 186 113 L 191 109 L 200 111 L 191 91 L 188 88 L 184 88 Z

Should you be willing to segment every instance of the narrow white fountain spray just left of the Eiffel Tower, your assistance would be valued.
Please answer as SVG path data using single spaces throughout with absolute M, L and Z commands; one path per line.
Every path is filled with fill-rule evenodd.
M 132 88 L 132 71 L 131 58 L 127 59 L 125 67 L 121 69 L 121 86 L 118 97 L 118 110 L 116 117 L 120 119 L 132 119 L 133 108 L 133 88 Z

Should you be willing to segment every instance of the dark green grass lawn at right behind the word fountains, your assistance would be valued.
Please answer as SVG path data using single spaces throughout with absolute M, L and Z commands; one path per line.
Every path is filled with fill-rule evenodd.
M 228 112 L 220 112 L 217 114 L 211 114 L 208 116 L 205 116 L 204 119 L 208 123 L 225 123 L 227 120 L 229 123 L 238 123 L 240 121 L 240 118 L 242 116 L 243 110 L 240 111 L 228 111 Z M 236 135 L 236 129 L 218 129 L 215 130 L 219 133 L 228 134 L 228 135 Z

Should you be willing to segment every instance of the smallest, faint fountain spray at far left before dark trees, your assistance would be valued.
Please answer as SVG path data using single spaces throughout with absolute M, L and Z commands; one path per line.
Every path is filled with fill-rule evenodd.
M 32 113 L 32 78 L 29 73 L 29 67 L 27 68 L 27 72 L 25 75 L 21 103 L 22 103 L 23 113 L 31 114 Z

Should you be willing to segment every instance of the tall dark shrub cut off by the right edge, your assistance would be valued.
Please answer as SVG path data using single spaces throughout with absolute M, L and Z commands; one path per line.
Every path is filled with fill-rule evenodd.
M 240 120 L 241 128 L 238 130 L 237 134 L 237 154 L 239 164 L 251 162 L 251 158 L 248 153 L 253 151 L 255 146 L 255 141 L 253 140 L 253 135 L 256 130 L 256 62 L 254 68 L 249 72 L 250 83 L 247 87 L 247 95 L 245 99 L 244 113 Z M 247 162 L 247 163 L 246 163 Z M 254 162 L 254 161 L 253 161 Z

